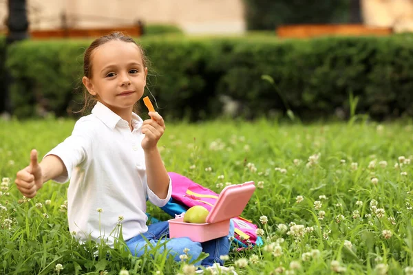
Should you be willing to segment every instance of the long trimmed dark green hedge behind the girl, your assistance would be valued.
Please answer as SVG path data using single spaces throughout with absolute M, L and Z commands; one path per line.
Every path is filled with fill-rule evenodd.
M 83 51 L 91 41 L 25 41 L 10 47 L 15 114 L 65 115 L 81 109 Z M 306 41 L 264 38 L 151 38 L 148 86 L 160 113 L 200 120 L 222 114 L 218 98 L 240 102 L 240 116 L 285 111 L 275 87 L 304 120 L 348 112 L 384 119 L 413 114 L 413 36 L 337 37 Z M 275 87 L 262 75 L 275 80 Z M 78 88 L 78 94 L 74 93 Z M 146 91 L 149 95 L 149 91 Z

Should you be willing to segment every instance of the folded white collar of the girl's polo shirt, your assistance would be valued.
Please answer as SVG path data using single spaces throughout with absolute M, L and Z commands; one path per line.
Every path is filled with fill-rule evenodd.
M 127 123 L 126 120 L 123 120 L 123 118 L 120 118 L 119 115 L 116 115 L 114 111 L 112 111 L 111 109 L 109 109 L 108 107 L 106 107 L 104 104 L 102 104 L 99 101 L 96 102 L 96 105 L 93 107 L 92 113 L 96 115 L 96 117 L 99 120 L 105 123 L 106 126 L 108 126 L 112 130 L 115 128 L 115 126 L 120 121 Z M 143 120 L 142 118 L 139 117 L 139 115 L 132 112 L 131 124 L 132 124 L 132 127 L 134 127 L 134 129 L 139 129 L 143 124 Z

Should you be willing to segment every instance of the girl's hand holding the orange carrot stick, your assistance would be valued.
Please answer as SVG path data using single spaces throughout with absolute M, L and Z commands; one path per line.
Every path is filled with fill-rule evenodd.
M 156 148 L 158 140 L 165 132 L 165 122 L 158 112 L 149 112 L 152 119 L 145 120 L 142 125 L 142 133 L 145 134 L 142 140 L 143 150 Z

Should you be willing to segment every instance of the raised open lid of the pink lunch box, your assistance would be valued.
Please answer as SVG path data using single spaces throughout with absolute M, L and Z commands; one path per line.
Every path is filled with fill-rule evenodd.
M 215 206 L 207 216 L 206 222 L 218 223 L 240 216 L 246 203 L 251 199 L 254 190 L 254 181 L 226 186 L 220 192 Z

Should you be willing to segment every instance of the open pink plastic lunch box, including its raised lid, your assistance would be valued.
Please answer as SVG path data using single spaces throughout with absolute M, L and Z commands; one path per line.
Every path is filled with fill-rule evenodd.
M 229 220 L 240 216 L 253 195 L 253 181 L 226 186 L 211 208 L 206 223 L 185 223 L 183 217 L 169 220 L 169 237 L 188 237 L 200 243 L 229 234 Z

